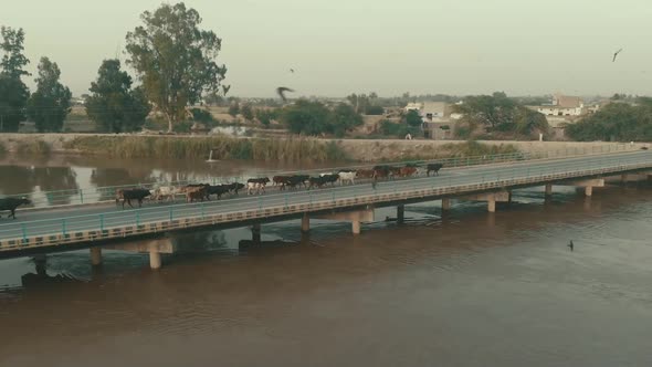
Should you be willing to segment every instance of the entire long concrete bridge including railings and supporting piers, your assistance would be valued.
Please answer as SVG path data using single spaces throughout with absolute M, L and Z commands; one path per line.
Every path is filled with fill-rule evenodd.
M 264 222 L 301 218 L 302 231 L 308 231 L 311 218 L 327 218 L 350 221 L 353 233 L 358 234 L 360 222 L 374 220 L 375 208 L 397 207 L 399 222 L 403 206 L 411 202 L 442 200 L 442 210 L 449 210 L 451 199 L 486 201 L 487 210 L 494 212 L 496 202 L 511 199 L 513 189 L 545 186 L 546 195 L 551 195 L 554 185 L 566 185 L 582 187 L 591 196 L 593 187 L 603 186 L 606 179 L 646 179 L 648 171 L 652 171 L 652 153 L 640 150 L 444 169 L 440 176 L 376 186 L 366 182 L 133 210 L 111 205 L 44 208 L 21 211 L 18 220 L 0 222 L 0 258 L 90 248 L 92 263 L 99 264 L 102 248 L 139 240 L 129 249 L 149 252 L 150 265 L 157 269 L 160 253 L 173 251 L 169 241 L 157 239 L 175 231 L 252 226 L 255 241 Z

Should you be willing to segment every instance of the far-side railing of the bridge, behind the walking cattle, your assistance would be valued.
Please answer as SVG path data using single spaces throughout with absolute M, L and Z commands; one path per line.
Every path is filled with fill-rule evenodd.
M 393 162 L 383 162 L 382 165 L 387 166 L 403 166 L 403 165 L 417 165 L 423 167 L 430 162 L 441 162 L 444 165 L 444 168 L 460 168 L 460 167 L 469 167 L 469 166 L 479 166 L 479 165 L 490 165 L 490 164 L 503 164 L 503 162 L 513 162 L 513 161 L 522 161 L 522 160 L 533 160 L 533 159 L 547 159 L 547 158 L 564 158 L 564 157 L 572 157 L 572 156 L 581 156 L 581 155 L 590 155 L 590 154 L 609 154 L 609 153 L 619 153 L 619 151 L 627 151 L 631 150 L 632 147 L 628 144 L 618 144 L 618 145 L 607 145 L 607 146 L 593 146 L 593 147 L 575 147 L 575 148 L 565 148 L 565 149 L 557 149 L 557 150 L 546 150 L 546 151 L 535 151 L 535 153 L 509 153 L 509 154 L 497 154 L 497 155 L 482 155 L 482 156 L 455 156 L 455 157 L 448 157 L 448 158 L 437 158 L 437 159 L 420 159 L 420 160 L 403 160 L 403 161 L 393 161 Z M 292 171 L 261 171 L 256 175 L 256 177 L 273 177 L 273 176 L 283 176 L 283 175 L 318 175 L 322 172 L 337 172 L 340 169 L 369 169 L 374 167 L 376 164 L 365 164 L 365 165 L 354 165 L 354 166 L 341 166 L 341 167 L 329 167 L 329 168 L 322 168 L 322 169 L 297 169 Z M 417 176 L 425 176 L 425 170 L 420 169 Z M 70 206 L 70 205 L 85 205 L 85 203 L 95 203 L 95 202 L 104 202 L 115 199 L 116 191 L 119 189 L 133 189 L 133 188 L 145 188 L 145 189 L 154 189 L 157 186 L 185 186 L 189 184 L 210 184 L 210 185 L 220 185 L 220 184 L 230 184 L 230 182 L 245 182 L 246 179 L 250 177 L 243 176 L 225 176 L 225 177 L 212 177 L 209 179 L 201 179 L 201 180 L 181 180 L 181 181 L 149 181 L 149 182 L 138 182 L 133 185 L 118 185 L 118 186 L 106 186 L 106 187 L 91 187 L 91 188 L 77 188 L 77 189 L 70 189 L 70 190 L 55 190 L 55 191 L 41 191 L 41 192 L 27 192 L 27 193 L 17 193 L 11 195 L 8 197 L 27 197 L 31 199 L 32 205 L 29 207 L 34 208 L 49 208 L 49 207 L 59 207 L 59 206 Z M 361 180 L 362 182 L 365 180 Z M 276 188 L 270 187 L 272 191 Z

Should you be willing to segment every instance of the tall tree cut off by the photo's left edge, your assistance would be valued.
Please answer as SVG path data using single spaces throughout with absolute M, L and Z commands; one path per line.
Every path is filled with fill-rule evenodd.
M 30 61 L 23 54 L 22 29 L 2 27 L 0 35 L 0 132 L 18 132 L 30 98 L 30 91 L 21 80 L 21 76 L 30 75 L 24 70 Z

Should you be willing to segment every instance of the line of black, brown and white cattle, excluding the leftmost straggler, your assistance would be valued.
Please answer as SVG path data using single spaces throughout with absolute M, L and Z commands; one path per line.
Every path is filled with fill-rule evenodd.
M 439 170 L 443 167 L 442 164 L 425 165 L 425 172 L 430 176 L 431 172 L 439 175 Z M 287 175 L 274 176 L 272 180 L 269 177 L 250 178 L 246 184 L 232 182 L 223 185 L 209 184 L 191 184 L 182 187 L 176 186 L 155 186 L 151 189 L 120 189 L 116 191 L 115 202 L 119 205 L 122 201 L 123 209 L 125 203 L 132 206 L 132 200 L 138 202 L 138 207 L 143 206 L 143 201 L 149 198 L 154 201 L 175 201 L 177 196 L 185 196 L 187 202 L 210 200 L 214 196 L 218 200 L 223 195 L 239 195 L 239 191 L 246 189 L 248 195 L 265 193 L 267 184 L 272 182 L 278 190 L 297 190 L 306 188 L 307 190 L 314 188 L 323 188 L 324 186 L 334 186 L 339 181 L 340 185 L 355 185 L 356 179 L 393 179 L 395 177 L 411 177 L 418 171 L 417 165 L 406 165 L 403 167 L 396 166 L 375 166 L 371 169 L 343 169 L 337 172 L 320 174 L 319 176 L 308 175 Z

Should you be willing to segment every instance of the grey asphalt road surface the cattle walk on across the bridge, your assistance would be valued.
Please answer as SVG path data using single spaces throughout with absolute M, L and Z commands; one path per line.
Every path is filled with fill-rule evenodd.
M 214 213 L 240 212 L 272 207 L 312 203 L 327 200 L 356 198 L 369 195 L 396 193 L 402 191 L 440 187 L 465 186 L 479 182 L 501 181 L 514 178 L 544 177 L 547 175 L 574 172 L 609 167 L 646 165 L 652 168 L 652 151 L 621 153 L 614 155 L 583 156 L 565 159 L 529 160 L 518 164 L 472 166 L 469 168 L 443 169 L 439 176 L 401 180 L 378 181 L 350 186 L 336 185 L 332 188 L 277 191 L 274 193 L 211 200 L 196 203 L 146 203 L 141 209 L 125 209 L 114 205 L 80 206 L 25 210 L 17 213 L 18 219 L 0 219 L 0 240 L 20 239 L 72 231 L 111 229 L 144 224 L 148 222 L 182 219 Z M 639 167 L 640 168 L 640 167 Z M 543 185 L 543 184 L 540 184 Z M 128 206 L 127 206 L 128 208 Z

